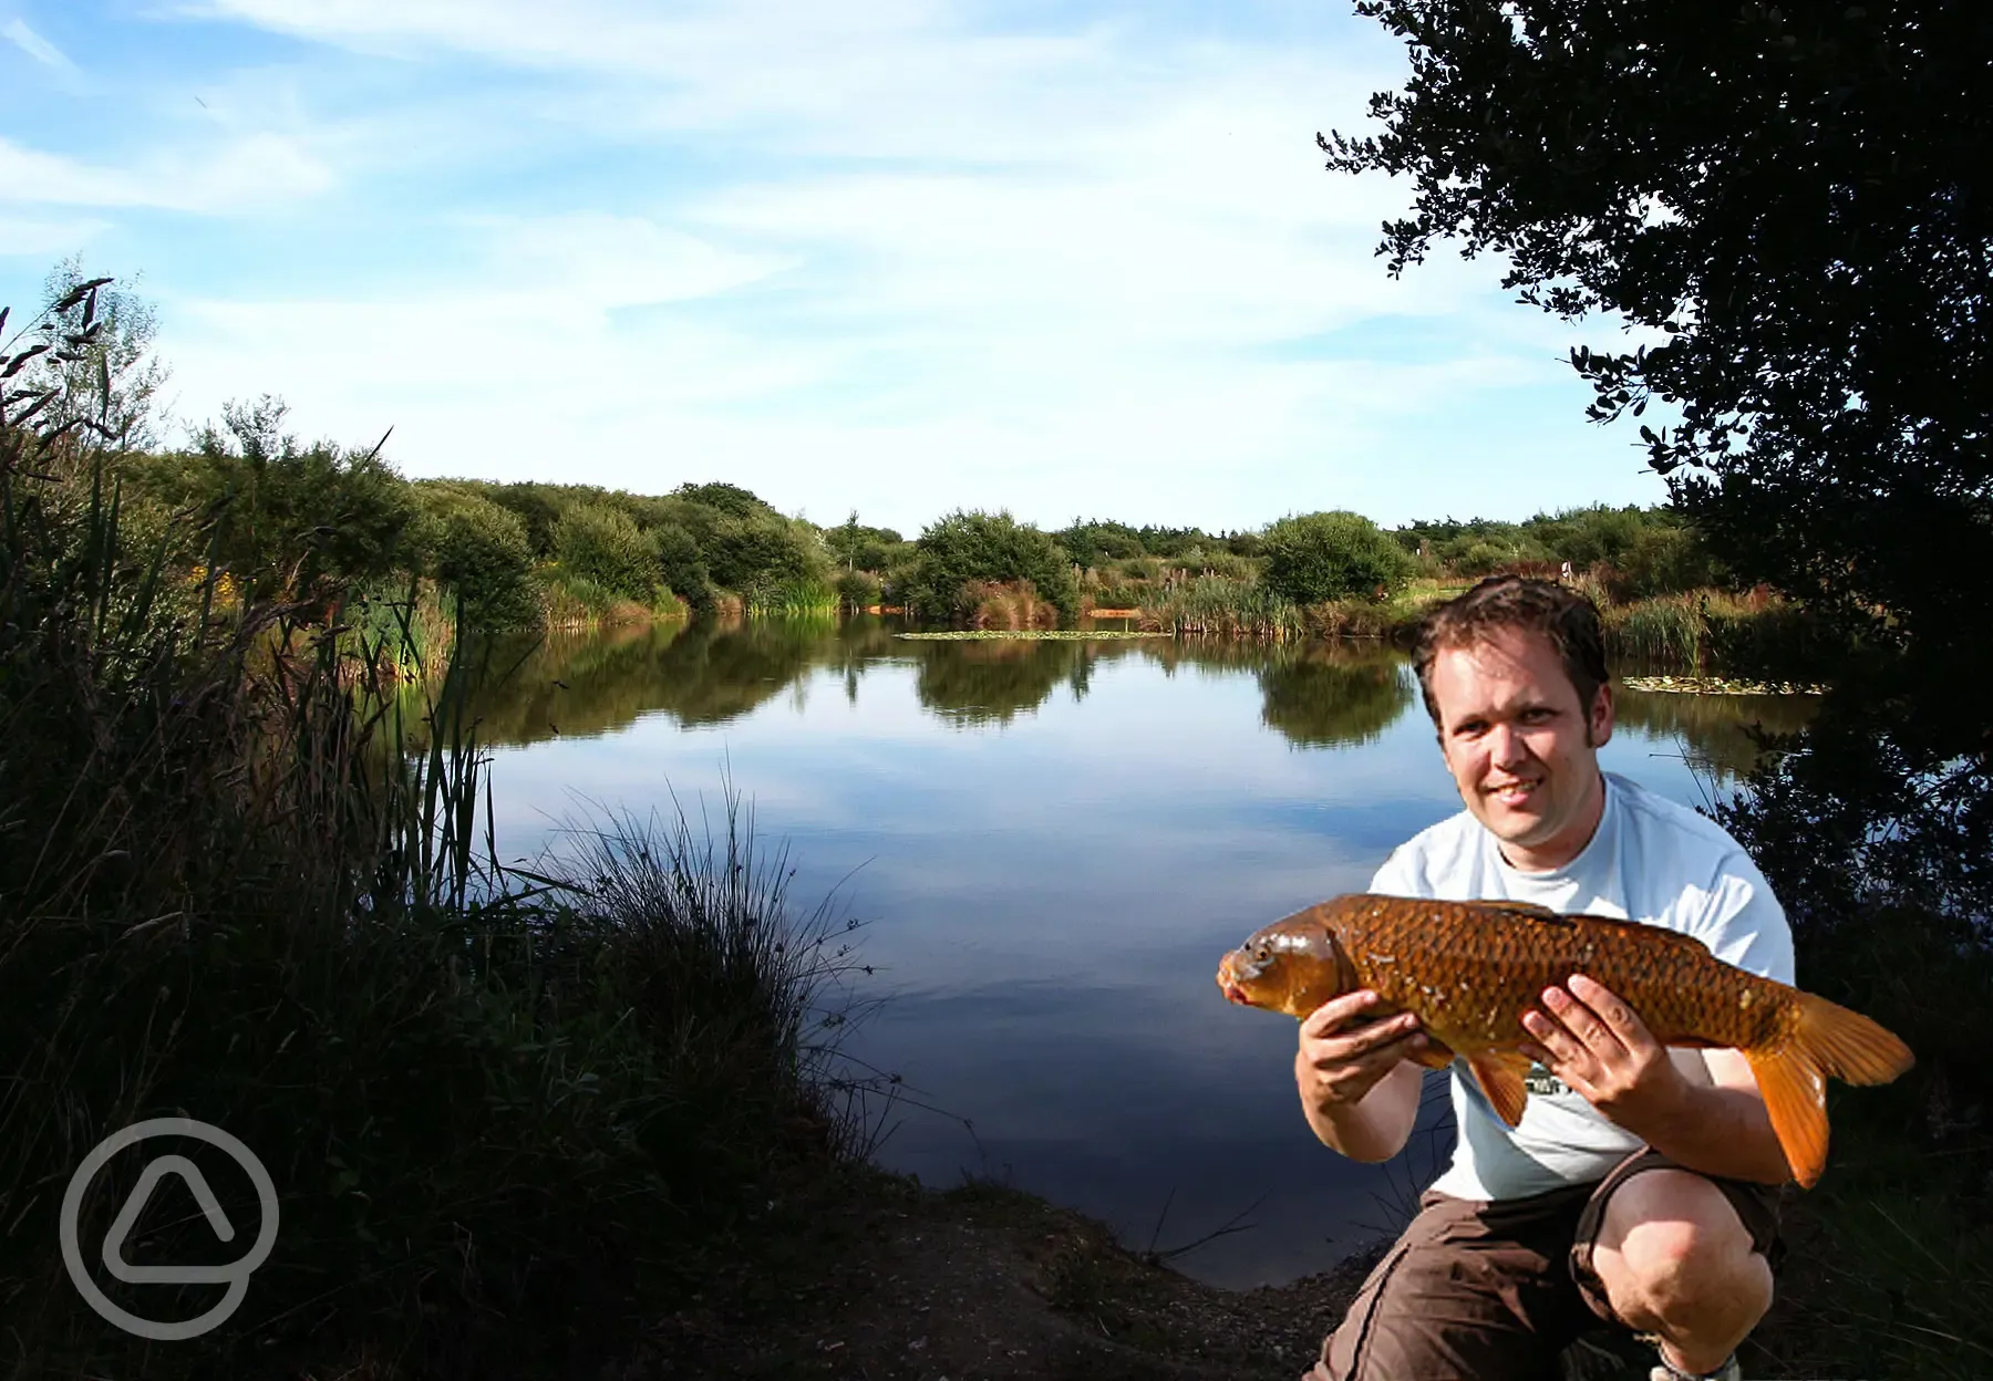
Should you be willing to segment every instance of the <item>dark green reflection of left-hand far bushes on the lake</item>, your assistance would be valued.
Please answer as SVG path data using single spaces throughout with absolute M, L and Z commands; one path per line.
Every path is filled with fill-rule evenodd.
M 885 636 L 829 622 L 749 620 L 612 628 L 498 648 L 476 693 L 486 743 L 536 743 L 554 735 L 610 733 L 664 711 L 686 725 L 735 719 L 793 686 L 815 666 L 847 668 L 877 656 Z M 516 670 L 500 676 L 506 668 Z

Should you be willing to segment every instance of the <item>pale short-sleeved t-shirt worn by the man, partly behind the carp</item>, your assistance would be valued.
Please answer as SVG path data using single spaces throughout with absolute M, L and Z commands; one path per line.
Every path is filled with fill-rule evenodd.
M 1792 982 L 1792 929 L 1758 867 L 1716 821 L 1604 773 L 1606 809 L 1584 851 L 1551 873 L 1509 867 L 1467 811 L 1399 847 L 1373 893 L 1437 901 L 1531 901 L 1551 911 L 1644 921 L 1692 935 L 1724 963 Z M 1602 1178 L 1640 1138 L 1612 1126 L 1545 1070 L 1531 1072 L 1523 1122 L 1509 1128 L 1465 1060 L 1453 1062 L 1453 1164 L 1433 1188 L 1509 1200 Z M 1549 1088 L 1549 1092 L 1539 1092 Z

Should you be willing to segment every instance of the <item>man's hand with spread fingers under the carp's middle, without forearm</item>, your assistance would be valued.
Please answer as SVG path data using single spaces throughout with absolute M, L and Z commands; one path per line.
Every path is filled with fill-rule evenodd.
M 1537 1048 L 1525 1046 L 1525 1054 L 1648 1142 L 1688 1092 L 1688 1080 L 1646 1022 L 1584 974 L 1570 974 L 1563 988 L 1545 988 L 1543 1008 L 1523 1012 L 1523 1028 L 1537 1038 Z

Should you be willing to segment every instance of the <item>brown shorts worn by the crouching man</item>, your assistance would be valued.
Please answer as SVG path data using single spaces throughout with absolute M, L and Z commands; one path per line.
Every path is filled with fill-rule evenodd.
M 1425 1194 L 1419 1216 L 1369 1273 L 1305 1381 L 1541 1381 L 1596 1319 L 1618 1323 L 1592 1273 L 1606 1200 L 1644 1170 L 1680 1170 L 1634 1152 L 1598 1184 L 1481 1204 Z M 1776 1265 L 1778 1190 L 1722 1190 Z

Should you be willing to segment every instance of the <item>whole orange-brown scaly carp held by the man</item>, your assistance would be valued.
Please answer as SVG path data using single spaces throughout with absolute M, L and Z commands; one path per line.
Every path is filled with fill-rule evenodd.
M 1537 1040 L 1523 1012 L 1582 972 L 1622 998 L 1664 1046 L 1724 1046 L 1750 1060 L 1772 1130 L 1802 1186 L 1828 1162 L 1826 1080 L 1887 1084 L 1911 1052 L 1867 1016 L 1726 965 L 1694 937 L 1606 917 L 1566 917 L 1515 901 L 1419 901 L 1353 893 L 1276 921 L 1218 965 L 1246 1006 L 1307 1016 L 1373 988 L 1371 1018 L 1417 1014 L 1413 1058 L 1467 1060 L 1495 1112 L 1515 1126 Z

